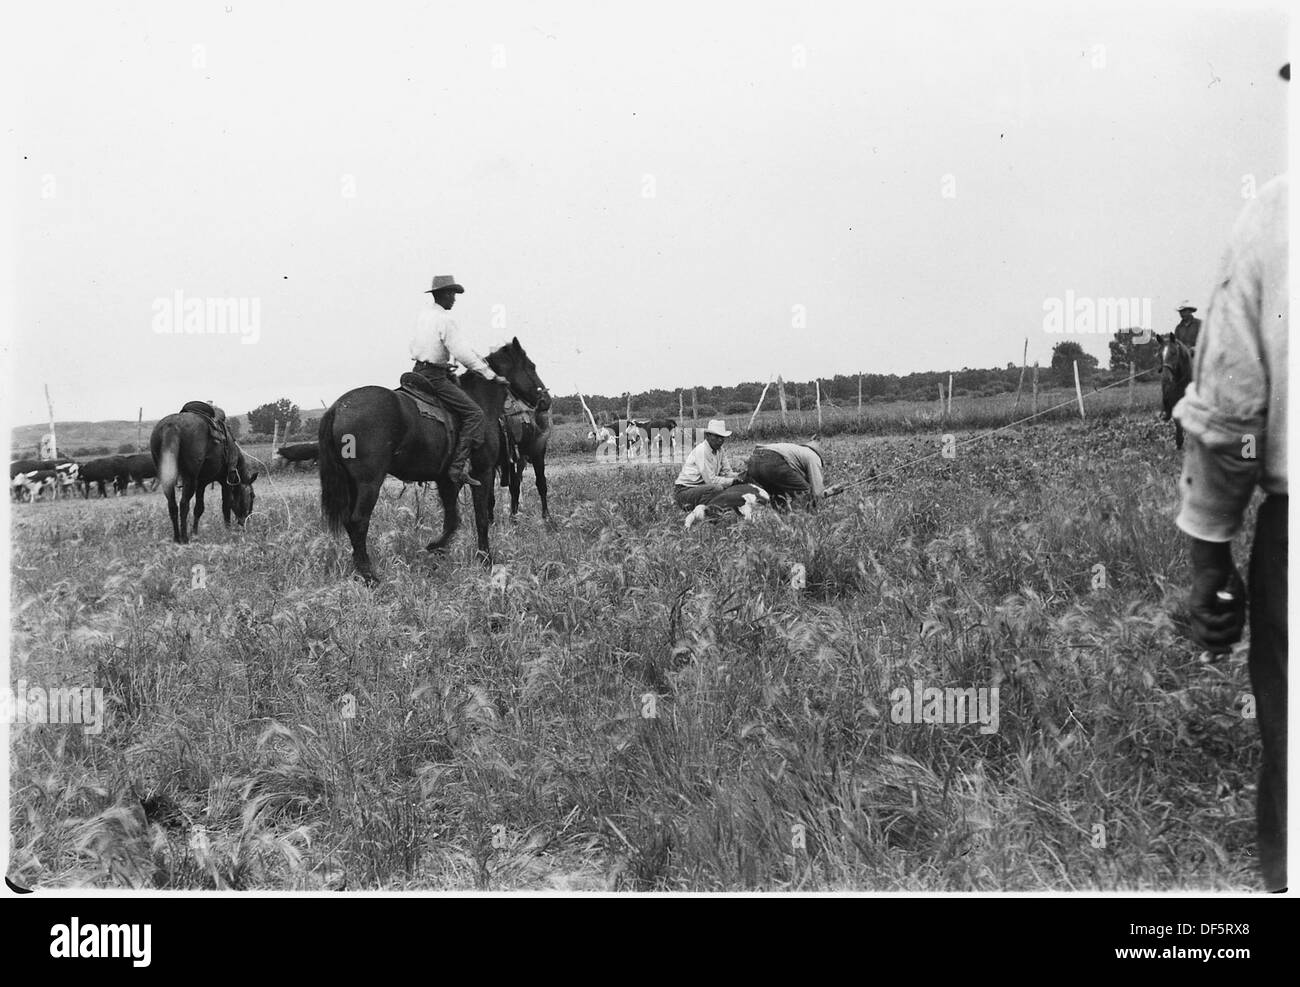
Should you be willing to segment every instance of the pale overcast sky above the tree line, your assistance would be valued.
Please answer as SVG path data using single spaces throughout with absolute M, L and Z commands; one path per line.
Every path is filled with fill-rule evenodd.
M 1286 168 L 1280 9 L 25 4 L 9 421 L 396 384 L 439 273 L 555 393 L 1046 360 L 1067 291 L 1167 329 Z

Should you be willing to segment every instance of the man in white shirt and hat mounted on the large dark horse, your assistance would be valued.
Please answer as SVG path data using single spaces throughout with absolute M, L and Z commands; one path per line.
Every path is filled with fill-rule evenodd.
M 415 372 L 424 377 L 429 390 L 460 420 L 460 436 L 451 454 L 448 479 L 456 484 L 478 486 L 478 481 L 469 475 L 469 456 L 486 437 L 484 412 L 456 382 L 451 362 L 456 360 L 490 381 L 500 377 L 464 341 L 460 326 L 448 315 L 456 303 L 456 295 L 464 290 L 451 274 L 434 277 L 433 287 L 425 291 L 426 295 L 433 295 L 434 304 L 420 313 L 411 339 L 411 359 L 416 362 Z

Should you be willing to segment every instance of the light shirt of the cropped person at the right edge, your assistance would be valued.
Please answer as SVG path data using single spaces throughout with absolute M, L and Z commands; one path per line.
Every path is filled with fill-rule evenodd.
M 1240 532 L 1265 456 L 1280 464 L 1284 490 L 1284 449 L 1269 443 L 1286 443 L 1286 212 L 1284 182 L 1270 183 L 1238 218 L 1192 384 L 1174 408 L 1187 430 L 1175 523 L 1201 541 L 1231 541 Z M 1268 311 L 1279 298 L 1282 311 Z

